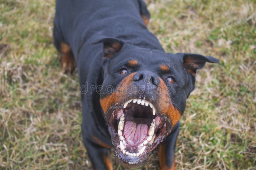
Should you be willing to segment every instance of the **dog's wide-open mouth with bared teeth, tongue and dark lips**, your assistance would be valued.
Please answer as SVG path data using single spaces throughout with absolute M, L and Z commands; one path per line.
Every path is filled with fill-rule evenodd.
M 170 126 L 157 113 L 156 107 L 143 99 L 131 99 L 122 107 L 115 108 L 108 123 L 116 156 L 128 164 L 146 160 L 147 152 L 152 151 L 165 137 L 166 125 Z

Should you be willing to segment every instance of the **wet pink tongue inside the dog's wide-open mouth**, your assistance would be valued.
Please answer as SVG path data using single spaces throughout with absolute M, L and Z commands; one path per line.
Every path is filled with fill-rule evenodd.
M 147 132 L 147 124 L 136 124 L 132 121 L 126 121 L 124 124 L 124 138 L 132 147 L 141 144 L 144 138 L 146 138 Z

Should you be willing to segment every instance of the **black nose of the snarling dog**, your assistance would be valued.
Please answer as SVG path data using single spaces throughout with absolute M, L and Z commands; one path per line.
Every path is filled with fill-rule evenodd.
M 140 71 L 133 76 L 133 81 L 139 81 L 140 84 L 159 85 L 159 79 L 156 74 L 151 71 Z

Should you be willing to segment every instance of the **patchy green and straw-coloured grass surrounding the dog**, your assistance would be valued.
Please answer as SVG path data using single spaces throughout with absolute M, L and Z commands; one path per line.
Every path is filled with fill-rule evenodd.
M 150 0 L 167 52 L 212 55 L 181 118 L 177 169 L 256 168 L 256 2 Z M 61 71 L 53 0 L 0 0 L 0 169 L 92 169 L 77 74 Z M 158 169 L 156 151 L 141 169 Z M 115 169 L 125 169 L 114 164 Z

